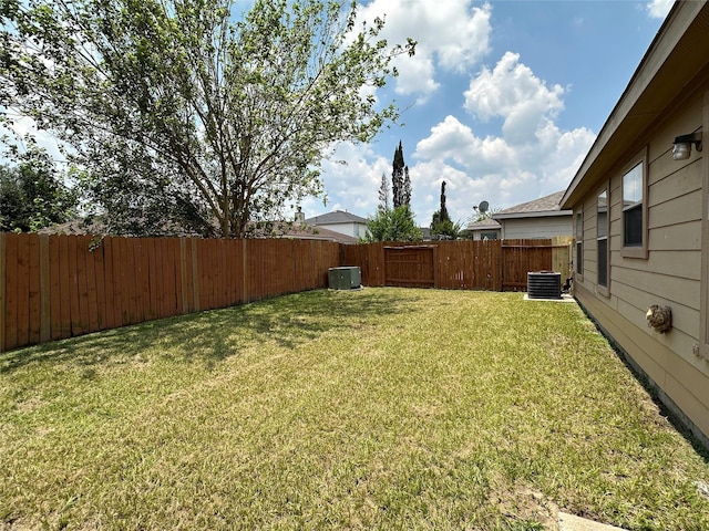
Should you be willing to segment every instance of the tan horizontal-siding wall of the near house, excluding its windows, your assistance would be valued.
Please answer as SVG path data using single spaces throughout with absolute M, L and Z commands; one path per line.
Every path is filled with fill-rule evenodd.
M 701 356 L 702 186 L 707 181 L 707 147 L 692 147 L 687 160 L 674 160 L 672 139 L 703 127 L 709 135 L 709 83 L 667 118 L 628 146 L 626 159 L 599 183 L 574 214 L 584 220 L 583 274 L 576 275 L 575 295 L 617 345 L 660 389 L 660 397 L 685 416 L 705 445 L 709 441 L 709 361 Z M 647 256 L 628 257 L 623 250 L 621 183 L 631 153 L 646 153 Z M 597 285 L 597 195 L 608 189 L 608 287 Z M 574 252 L 575 254 L 575 252 Z M 574 256 L 574 260 L 577 257 Z M 659 334 L 647 326 L 650 304 L 667 304 L 672 329 Z M 705 316 L 705 321 L 706 321 Z

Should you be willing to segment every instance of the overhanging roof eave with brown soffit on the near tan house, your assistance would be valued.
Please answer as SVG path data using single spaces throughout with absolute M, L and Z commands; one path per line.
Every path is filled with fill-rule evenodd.
M 562 198 L 572 208 L 648 144 L 671 105 L 709 74 L 709 2 L 675 2 Z M 689 133 L 678 131 L 679 133 Z M 671 148 L 671 137 L 667 149 Z

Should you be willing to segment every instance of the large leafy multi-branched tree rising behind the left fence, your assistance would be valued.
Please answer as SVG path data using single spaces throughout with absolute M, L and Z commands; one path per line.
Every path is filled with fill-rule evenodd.
M 343 3 L 0 0 L 0 110 L 68 146 L 111 231 L 245 236 L 398 117 L 367 88 L 415 43 Z

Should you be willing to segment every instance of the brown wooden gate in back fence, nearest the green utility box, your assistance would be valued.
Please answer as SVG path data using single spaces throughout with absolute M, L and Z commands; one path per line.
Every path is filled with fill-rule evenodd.
M 384 284 L 397 288 L 435 285 L 435 247 L 384 247 Z

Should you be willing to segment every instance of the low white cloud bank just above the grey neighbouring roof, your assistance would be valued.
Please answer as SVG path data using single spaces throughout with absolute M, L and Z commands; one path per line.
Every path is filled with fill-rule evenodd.
M 451 217 L 463 222 L 482 200 L 505 208 L 565 189 L 595 135 L 586 128 L 562 132 L 551 121 L 536 133 L 520 146 L 508 142 L 504 131 L 477 137 L 453 116 L 434 126 L 417 145 L 413 157 L 419 162 L 410 168 L 419 222 L 428 225 L 438 210 L 443 179 Z

